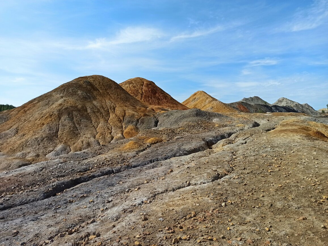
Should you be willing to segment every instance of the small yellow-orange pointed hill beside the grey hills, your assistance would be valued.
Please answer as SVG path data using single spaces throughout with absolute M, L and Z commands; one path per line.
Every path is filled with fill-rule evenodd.
M 196 91 L 188 99 L 182 102 L 191 109 L 200 109 L 218 113 L 237 113 L 238 111 L 225 103 L 215 99 L 204 91 Z

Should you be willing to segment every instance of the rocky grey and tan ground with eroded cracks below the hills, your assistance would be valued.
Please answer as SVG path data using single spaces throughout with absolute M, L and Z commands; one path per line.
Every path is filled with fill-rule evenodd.
M 327 245 L 328 125 L 200 110 L 0 174 L 0 245 Z

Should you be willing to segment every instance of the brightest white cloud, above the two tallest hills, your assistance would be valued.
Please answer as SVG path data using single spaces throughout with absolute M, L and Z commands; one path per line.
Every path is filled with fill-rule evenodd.
M 99 49 L 118 44 L 129 44 L 143 41 L 150 41 L 163 36 L 163 33 L 155 28 L 149 27 L 128 27 L 121 30 L 115 38 L 97 38 L 90 42 L 85 48 Z

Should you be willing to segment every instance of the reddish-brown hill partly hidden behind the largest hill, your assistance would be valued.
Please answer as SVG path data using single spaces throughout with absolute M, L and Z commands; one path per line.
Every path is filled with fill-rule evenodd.
M 164 90 L 156 86 L 153 81 L 136 77 L 120 83 L 120 86 L 122 86 L 133 97 L 144 104 L 147 104 L 155 111 L 188 109 Z

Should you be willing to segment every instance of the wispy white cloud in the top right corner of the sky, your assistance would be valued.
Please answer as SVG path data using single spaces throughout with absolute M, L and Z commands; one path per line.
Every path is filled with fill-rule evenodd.
M 328 23 L 328 0 L 315 0 L 308 9 L 298 10 L 292 22 L 288 23 L 287 31 L 297 32 L 317 28 Z

